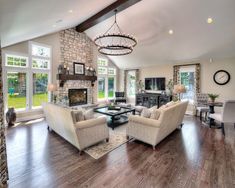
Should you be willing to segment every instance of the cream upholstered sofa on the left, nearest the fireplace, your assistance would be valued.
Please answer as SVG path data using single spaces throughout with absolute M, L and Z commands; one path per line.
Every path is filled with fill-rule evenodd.
M 43 110 L 49 128 L 77 147 L 80 152 L 102 140 L 108 140 L 109 130 L 106 118 L 75 122 L 73 110 L 51 103 L 44 103 Z

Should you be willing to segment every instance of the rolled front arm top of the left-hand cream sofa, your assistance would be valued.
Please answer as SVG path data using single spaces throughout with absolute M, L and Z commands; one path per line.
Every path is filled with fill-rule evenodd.
M 101 117 L 94 118 L 94 119 L 79 121 L 74 126 L 77 129 L 84 129 L 84 128 L 88 128 L 88 127 L 94 127 L 96 125 L 103 125 L 106 123 L 107 123 L 106 118 L 104 116 L 101 116 Z

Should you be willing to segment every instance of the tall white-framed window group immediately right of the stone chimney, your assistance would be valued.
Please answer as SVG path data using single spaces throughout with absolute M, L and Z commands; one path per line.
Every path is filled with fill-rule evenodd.
M 108 66 L 108 60 L 98 58 L 98 99 L 114 98 L 116 68 Z

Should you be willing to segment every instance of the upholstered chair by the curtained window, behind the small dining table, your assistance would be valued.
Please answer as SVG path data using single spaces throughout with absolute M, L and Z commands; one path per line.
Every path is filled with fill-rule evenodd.
M 208 102 L 208 94 L 206 93 L 197 93 L 195 96 L 195 108 L 196 108 L 196 116 L 197 112 L 200 113 L 200 120 L 202 121 L 202 114 L 205 113 L 205 119 L 207 118 L 207 114 L 209 112 L 209 107 L 205 105 Z

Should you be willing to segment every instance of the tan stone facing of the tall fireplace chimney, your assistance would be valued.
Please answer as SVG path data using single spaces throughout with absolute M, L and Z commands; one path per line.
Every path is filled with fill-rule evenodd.
M 60 31 L 60 64 L 69 67 L 69 74 L 73 74 L 73 63 L 84 63 L 85 66 L 92 66 L 96 69 L 95 44 L 85 34 L 78 33 L 75 28 Z M 97 82 L 91 87 L 90 81 L 76 80 L 67 81 L 63 88 L 59 88 L 59 96 L 68 96 L 68 89 L 87 88 L 88 103 L 97 102 Z

